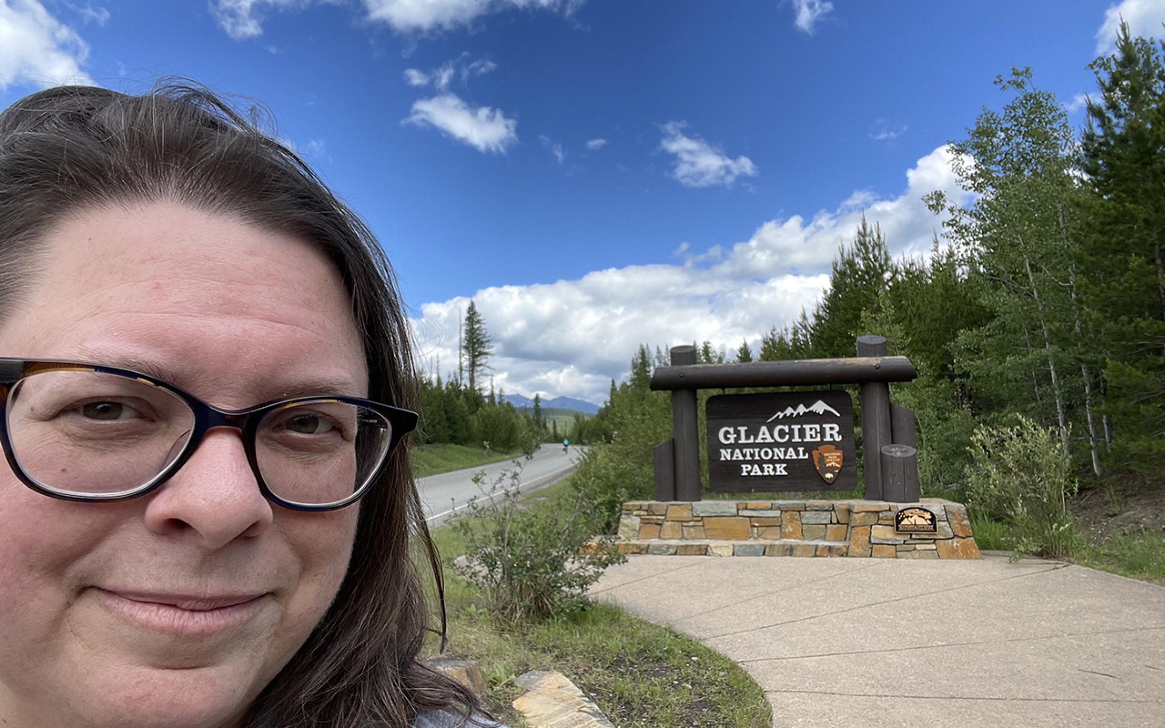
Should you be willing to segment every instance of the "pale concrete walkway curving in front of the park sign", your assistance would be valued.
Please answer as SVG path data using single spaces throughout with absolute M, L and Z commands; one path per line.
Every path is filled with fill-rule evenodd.
M 1165 588 L 1058 561 L 633 556 L 592 593 L 740 663 L 774 726 L 1165 726 Z

